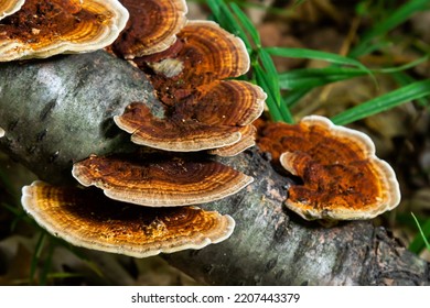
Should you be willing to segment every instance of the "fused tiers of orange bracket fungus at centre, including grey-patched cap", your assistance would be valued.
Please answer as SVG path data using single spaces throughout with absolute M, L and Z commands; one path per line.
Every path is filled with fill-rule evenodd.
M 243 41 L 209 21 L 190 21 L 178 38 L 166 51 L 133 61 L 149 75 L 164 118 L 132 103 L 115 117 L 117 125 L 132 134 L 132 142 L 166 151 L 219 148 L 212 153 L 233 156 L 252 146 L 250 125 L 266 94 L 246 81 L 223 80 L 248 70 Z

